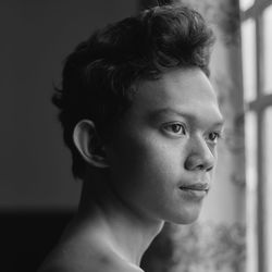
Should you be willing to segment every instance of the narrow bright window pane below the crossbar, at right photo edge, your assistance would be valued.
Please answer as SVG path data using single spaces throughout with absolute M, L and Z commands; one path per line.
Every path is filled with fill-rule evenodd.
M 264 132 L 265 132 L 265 145 L 264 145 L 264 190 L 265 191 L 265 213 L 264 219 L 264 230 L 265 230 L 265 240 L 268 260 L 268 271 L 272 271 L 272 107 L 269 107 L 264 112 Z

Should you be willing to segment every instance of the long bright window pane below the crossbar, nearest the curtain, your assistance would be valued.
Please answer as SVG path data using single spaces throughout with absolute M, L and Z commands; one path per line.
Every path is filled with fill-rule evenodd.
M 246 181 L 247 181 L 247 272 L 258 271 L 257 243 L 257 118 L 246 113 Z

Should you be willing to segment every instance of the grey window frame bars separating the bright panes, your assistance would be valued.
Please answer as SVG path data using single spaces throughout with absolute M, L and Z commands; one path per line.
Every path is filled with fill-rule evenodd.
M 248 226 L 255 232 L 255 227 L 257 228 L 257 237 L 256 237 L 256 245 L 257 245 L 257 256 L 247 256 L 247 258 L 255 258 L 258 272 L 269 272 L 269 261 L 271 262 L 269 255 L 267 252 L 268 242 L 267 239 L 267 232 L 269 231 L 268 220 L 267 220 L 267 212 L 268 207 L 265 206 L 265 198 L 268 197 L 265 188 L 267 188 L 267 178 L 265 178 L 265 163 L 263 163 L 264 156 L 265 156 L 265 148 L 264 148 L 264 136 L 265 136 L 265 127 L 263 125 L 264 121 L 264 111 L 268 107 L 272 107 L 272 90 L 271 94 L 264 94 L 263 89 L 263 71 L 264 71 L 264 55 L 263 55 L 263 18 L 262 14 L 263 11 L 272 5 L 272 0 L 255 0 L 254 4 L 245 11 L 240 11 L 240 24 L 249 18 L 255 21 L 256 25 L 256 90 L 257 96 L 251 101 L 245 101 L 245 114 L 247 115 L 249 112 L 254 112 L 257 118 L 257 191 L 256 191 L 256 199 L 257 199 L 257 213 L 256 218 L 254 218 Z M 272 61 L 272 60 L 271 60 Z M 245 91 L 245 90 L 244 90 Z M 247 131 L 247 129 L 246 129 Z M 247 137 L 247 135 L 246 135 Z M 249 147 L 250 148 L 250 147 Z M 270 208 L 272 211 L 272 208 Z M 254 230 L 252 230 L 254 228 Z M 251 237 L 252 238 L 252 237 Z M 255 245 L 250 240 L 247 240 L 248 246 Z M 272 247 L 272 245 L 270 245 Z M 254 252 L 255 250 L 249 250 Z M 251 260 L 250 260 L 251 261 Z M 247 262 L 249 263 L 249 262 Z M 251 262 L 250 262 L 251 263 Z M 271 265 L 271 263 L 270 263 Z M 252 268 L 247 268 L 247 271 L 255 271 Z

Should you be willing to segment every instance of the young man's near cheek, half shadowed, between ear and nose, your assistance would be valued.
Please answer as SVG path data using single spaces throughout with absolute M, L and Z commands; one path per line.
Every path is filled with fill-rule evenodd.
M 157 134 L 133 134 L 118 144 L 112 163 L 119 178 L 149 181 L 175 178 L 182 168 L 182 150 Z

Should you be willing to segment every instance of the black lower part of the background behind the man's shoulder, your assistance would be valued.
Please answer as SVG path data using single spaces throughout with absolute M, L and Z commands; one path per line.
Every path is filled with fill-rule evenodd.
M 37 271 L 72 217 L 63 211 L 1 211 L 0 270 Z

